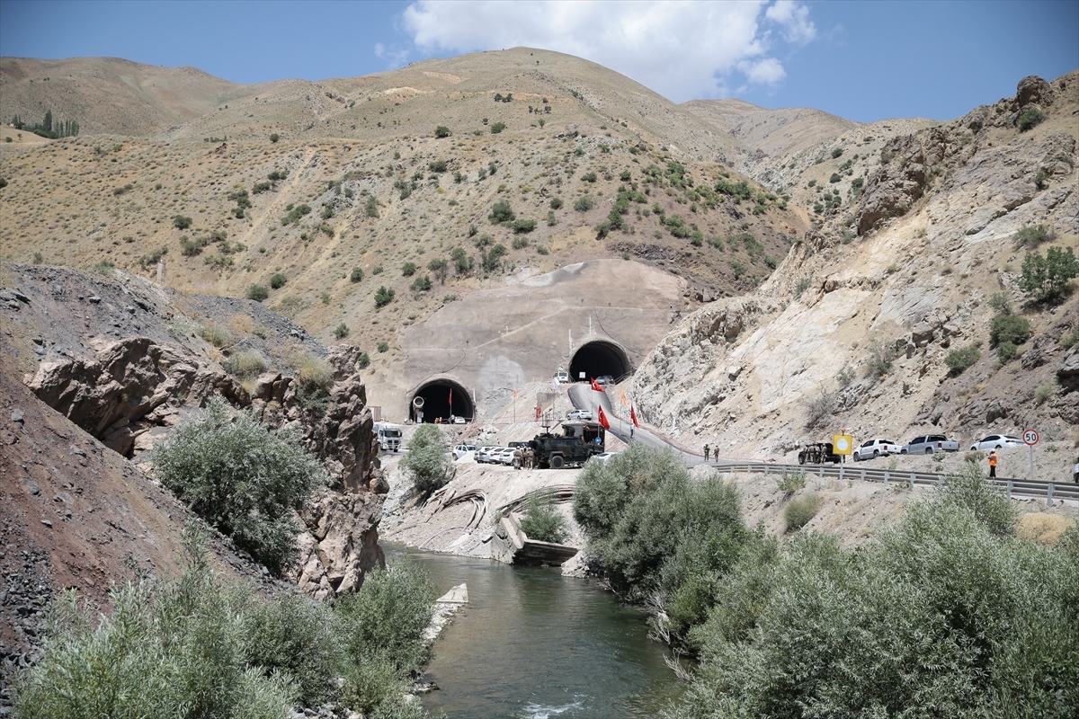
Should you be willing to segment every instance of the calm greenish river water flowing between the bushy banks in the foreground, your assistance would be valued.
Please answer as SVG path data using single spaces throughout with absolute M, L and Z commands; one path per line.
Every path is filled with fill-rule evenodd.
M 555 568 L 386 548 L 422 564 L 468 605 L 435 642 L 423 697 L 450 719 L 656 717 L 681 691 L 645 616 Z

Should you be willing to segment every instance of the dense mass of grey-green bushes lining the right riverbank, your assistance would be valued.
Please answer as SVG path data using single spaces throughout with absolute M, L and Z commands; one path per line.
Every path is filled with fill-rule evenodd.
M 623 454 L 582 472 L 574 514 L 615 590 L 666 609 L 671 641 L 701 660 L 668 717 L 1074 716 L 1079 530 L 1055 549 L 1016 538 L 976 467 L 845 550 L 748 531 L 729 499 L 697 513 L 686 504 L 722 483 Z

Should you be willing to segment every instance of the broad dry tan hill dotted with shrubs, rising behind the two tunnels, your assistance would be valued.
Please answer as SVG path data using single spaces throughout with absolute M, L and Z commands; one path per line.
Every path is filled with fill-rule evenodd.
M 33 80 L 35 102 L 68 112 L 45 66 L 23 66 L 4 87 L 30 93 Z M 189 105 L 215 88 L 192 89 Z M 347 332 L 378 364 L 454 298 L 591 259 L 661 267 L 693 298 L 738 294 L 807 227 L 783 195 L 712 162 L 737 140 L 557 53 L 220 92 L 233 95 L 151 137 L 84 130 L 29 147 L 8 129 L 0 257 L 148 278 L 164 260 L 168 287 L 258 286 L 268 306 L 323 342 Z M 373 352 L 383 342 L 390 355 Z

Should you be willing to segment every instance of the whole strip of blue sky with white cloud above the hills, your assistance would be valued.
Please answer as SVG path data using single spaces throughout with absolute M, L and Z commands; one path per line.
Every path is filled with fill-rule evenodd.
M 525 44 L 675 101 L 950 120 L 1079 68 L 1079 0 L 78 2 L 0 0 L 0 55 L 191 65 L 233 82 L 361 75 Z

